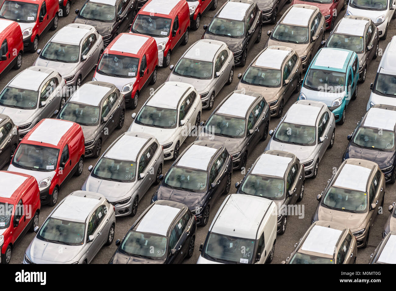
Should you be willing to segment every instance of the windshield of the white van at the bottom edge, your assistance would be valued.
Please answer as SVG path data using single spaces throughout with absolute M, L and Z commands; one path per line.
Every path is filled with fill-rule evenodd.
M 219 263 L 254 263 L 255 240 L 237 238 L 210 232 L 203 257 Z

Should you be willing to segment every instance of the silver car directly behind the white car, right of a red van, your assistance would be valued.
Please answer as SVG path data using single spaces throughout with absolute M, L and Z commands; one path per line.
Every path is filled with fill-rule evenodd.
M 215 96 L 234 77 L 234 55 L 224 42 L 198 40 L 181 56 L 166 81 L 188 83 L 198 91 L 202 108 L 213 108 Z

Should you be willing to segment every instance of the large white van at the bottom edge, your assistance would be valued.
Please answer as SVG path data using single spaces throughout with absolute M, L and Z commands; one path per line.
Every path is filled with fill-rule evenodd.
M 274 258 L 278 211 L 263 197 L 228 195 L 213 218 L 197 264 L 264 264 Z

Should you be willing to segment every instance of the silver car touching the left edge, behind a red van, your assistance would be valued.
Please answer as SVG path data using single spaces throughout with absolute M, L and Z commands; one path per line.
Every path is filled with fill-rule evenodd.
M 41 119 L 51 118 L 66 102 L 65 79 L 52 68 L 29 67 L 4 87 L 0 113 L 11 117 L 21 140 Z

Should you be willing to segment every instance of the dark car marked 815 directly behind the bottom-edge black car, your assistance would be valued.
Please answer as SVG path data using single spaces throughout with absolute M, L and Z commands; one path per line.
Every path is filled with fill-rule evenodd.
M 187 205 L 198 225 L 206 225 L 209 211 L 231 186 L 232 157 L 223 144 L 196 141 L 183 151 L 151 198 Z

